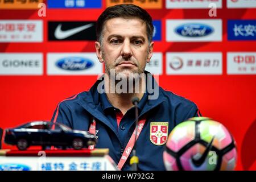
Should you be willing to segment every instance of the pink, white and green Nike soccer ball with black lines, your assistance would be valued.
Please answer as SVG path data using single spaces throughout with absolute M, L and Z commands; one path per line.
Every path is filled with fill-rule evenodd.
M 221 123 L 190 118 L 171 131 L 163 160 L 168 171 L 230 171 L 236 167 L 236 142 Z

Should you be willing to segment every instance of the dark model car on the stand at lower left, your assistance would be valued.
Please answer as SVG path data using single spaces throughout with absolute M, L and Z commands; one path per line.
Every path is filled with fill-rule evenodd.
M 29 146 L 73 147 L 80 150 L 83 147 L 96 144 L 96 136 L 87 131 L 72 130 L 60 123 L 35 121 L 13 129 L 6 129 L 5 143 L 16 145 L 19 150 Z

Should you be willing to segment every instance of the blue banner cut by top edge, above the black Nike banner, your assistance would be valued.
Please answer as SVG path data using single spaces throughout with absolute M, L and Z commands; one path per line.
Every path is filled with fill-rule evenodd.
M 48 8 L 101 8 L 101 0 L 48 0 Z

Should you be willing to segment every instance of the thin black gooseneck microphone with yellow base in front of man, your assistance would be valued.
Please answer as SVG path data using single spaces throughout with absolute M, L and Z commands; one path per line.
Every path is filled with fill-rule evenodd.
M 138 104 L 139 104 L 139 98 L 138 97 L 133 97 L 131 99 L 131 102 L 135 106 L 136 128 L 135 128 L 135 140 L 134 140 L 134 147 L 133 147 L 133 156 L 130 159 L 130 165 L 131 165 L 131 171 L 138 171 L 139 158 L 136 155 L 136 139 L 137 139 L 137 132 L 138 132 L 138 117 L 139 117 Z

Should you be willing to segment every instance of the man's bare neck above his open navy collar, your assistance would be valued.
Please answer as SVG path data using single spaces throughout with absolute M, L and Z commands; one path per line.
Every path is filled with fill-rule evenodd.
M 129 110 L 131 107 L 133 107 L 133 103 L 131 100 L 133 97 L 138 97 L 139 100 L 143 97 L 145 90 L 146 90 L 146 81 L 145 78 L 139 78 L 139 82 L 135 82 L 133 84 L 133 92 L 129 93 L 117 93 L 116 90 L 113 88 L 115 84 L 110 84 L 110 79 L 108 76 L 105 76 L 105 90 L 109 91 L 106 92 L 106 96 L 110 102 L 115 108 L 122 111 L 122 114 L 125 115 L 126 111 Z M 135 92 L 135 86 L 139 85 L 139 92 Z M 112 90 L 115 90 L 115 92 L 110 92 L 110 87 L 112 86 Z M 127 86 L 128 87 L 128 86 Z M 137 88 L 138 89 L 138 88 Z

